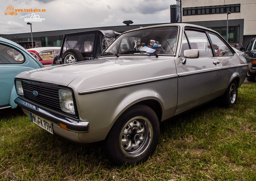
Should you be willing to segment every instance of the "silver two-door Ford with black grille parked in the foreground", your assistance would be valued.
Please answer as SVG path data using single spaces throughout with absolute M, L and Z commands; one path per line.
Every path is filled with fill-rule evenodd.
M 154 152 L 161 121 L 217 97 L 234 106 L 247 66 L 213 30 L 151 26 L 124 32 L 96 60 L 19 74 L 15 101 L 50 133 L 105 140 L 112 163 L 134 164 Z

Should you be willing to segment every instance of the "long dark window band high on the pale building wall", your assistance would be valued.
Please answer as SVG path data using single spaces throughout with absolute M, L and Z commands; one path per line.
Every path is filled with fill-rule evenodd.
M 240 12 L 240 4 L 183 8 L 183 16 L 199 14 L 224 14 L 229 11 L 232 13 Z

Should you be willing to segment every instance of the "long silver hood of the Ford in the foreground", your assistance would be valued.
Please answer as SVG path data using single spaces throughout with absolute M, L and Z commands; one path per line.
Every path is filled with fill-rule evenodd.
M 80 87 L 81 90 L 79 91 L 84 91 L 85 86 L 80 85 L 86 85 L 86 90 L 90 90 L 166 76 L 173 72 L 173 70 L 170 72 L 172 67 L 170 66 L 170 59 L 174 59 L 174 57 L 124 56 L 100 58 L 98 60 L 31 70 L 19 74 L 16 78 L 70 86 L 72 88 Z M 165 63 L 159 64 L 160 62 Z M 166 66 L 166 68 L 163 69 L 163 66 Z M 158 67 L 161 71 L 157 71 Z

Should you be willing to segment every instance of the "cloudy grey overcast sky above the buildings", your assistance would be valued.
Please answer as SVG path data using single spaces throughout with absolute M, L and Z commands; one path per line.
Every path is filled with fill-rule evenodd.
M 10 4 L 14 11 L 33 12 L 10 15 L 7 10 L 5 15 Z M 32 23 L 33 32 L 122 26 L 124 20 L 132 20 L 133 25 L 170 23 L 171 4 L 176 0 L 1 0 L 0 34 L 30 32 L 27 22 Z

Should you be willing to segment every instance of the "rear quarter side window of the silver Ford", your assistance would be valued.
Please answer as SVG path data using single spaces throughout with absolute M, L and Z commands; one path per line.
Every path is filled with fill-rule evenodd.
M 212 46 L 214 48 L 214 52 L 216 56 L 233 56 L 234 54 L 232 53 L 232 51 L 228 48 L 228 46 L 226 46 L 226 44 L 224 44 L 224 42 L 222 42 L 222 40 L 214 35 L 214 34 L 210 34 L 209 36 L 212 40 Z M 209 46 L 209 48 L 211 48 Z

